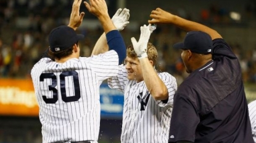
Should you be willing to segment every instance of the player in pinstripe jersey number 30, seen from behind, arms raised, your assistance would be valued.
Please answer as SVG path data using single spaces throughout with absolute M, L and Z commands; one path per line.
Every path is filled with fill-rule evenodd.
M 117 75 L 118 65 L 126 57 L 125 43 L 109 17 L 104 0 L 90 0 L 85 6 L 101 22 L 109 51 L 80 57 L 78 41 L 83 35 L 75 33 L 85 15 L 79 12 L 80 4 L 81 0 L 73 2 L 68 26 L 51 31 L 49 48 L 31 69 L 44 143 L 97 142 L 99 87 L 103 80 Z M 122 25 L 127 23 L 122 21 Z

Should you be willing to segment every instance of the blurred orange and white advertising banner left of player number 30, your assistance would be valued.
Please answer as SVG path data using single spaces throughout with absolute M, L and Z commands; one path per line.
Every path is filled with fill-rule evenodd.
M 38 116 L 32 80 L 0 79 L 0 115 Z

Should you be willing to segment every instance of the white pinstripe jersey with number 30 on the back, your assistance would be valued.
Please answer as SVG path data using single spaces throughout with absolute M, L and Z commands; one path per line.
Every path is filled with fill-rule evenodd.
M 31 70 L 39 104 L 43 142 L 97 142 L 100 123 L 99 87 L 117 75 L 114 50 L 89 58 L 56 63 L 42 58 Z

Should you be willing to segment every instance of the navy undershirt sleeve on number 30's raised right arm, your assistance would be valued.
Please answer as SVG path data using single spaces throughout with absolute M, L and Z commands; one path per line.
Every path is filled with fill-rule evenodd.
M 106 34 L 107 44 L 109 45 L 109 50 L 115 50 L 119 57 L 119 64 L 122 64 L 126 57 L 126 46 L 123 41 L 123 37 L 117 30 L 112 30 Z

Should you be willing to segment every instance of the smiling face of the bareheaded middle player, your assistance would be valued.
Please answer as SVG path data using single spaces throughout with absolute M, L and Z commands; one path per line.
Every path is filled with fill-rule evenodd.
M 129 80 L 136 80 L 136 82 L 141 82 L 143 80 L 141 64 L 138 58 L 131 58 L 126 56 L 125 68 L 128 72 Z

